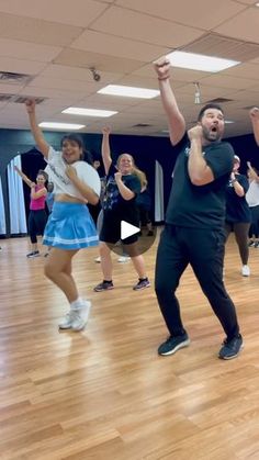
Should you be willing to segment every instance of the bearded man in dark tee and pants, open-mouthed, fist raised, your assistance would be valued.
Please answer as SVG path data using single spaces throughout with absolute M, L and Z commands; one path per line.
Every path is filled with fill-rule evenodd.
M 173 184 L 156 262 L 156 293 L 169 329 L 158 354 L 168 356 L 190 344 L 174 295 L 190 263 L 214 313 L 226 333 L 218 357 L 235 358 L 243 346 L 234 303 L 223 283 L 225 189 L 233 169 L 234 150 L 223 143 L 224 114 L 205 105 L 198 124 L 185 132 L 185 122 L 169 82 L 170 63 L 155 63 L 170 141 L 178 156 Z

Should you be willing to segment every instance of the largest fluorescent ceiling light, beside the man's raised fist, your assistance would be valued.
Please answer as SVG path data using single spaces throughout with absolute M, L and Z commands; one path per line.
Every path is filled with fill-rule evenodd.
M 217 72 L 240 64 L 239 60 L 223 59 L 221 57 L 185 52 L 172 52 L 167 55 L 167 58 L 170 60 L 172 67 L 210 72 Z

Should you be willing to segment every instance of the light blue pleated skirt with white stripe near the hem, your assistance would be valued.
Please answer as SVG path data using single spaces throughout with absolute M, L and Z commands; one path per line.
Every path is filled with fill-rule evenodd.
M 97 246 L 97 228 L 87 205 L 55 202 L 45 227 L 43 244 L 67 250 Z

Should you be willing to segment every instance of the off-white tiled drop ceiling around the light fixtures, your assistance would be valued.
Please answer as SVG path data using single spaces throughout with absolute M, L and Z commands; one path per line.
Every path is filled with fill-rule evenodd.
M 27 128 L 23 104 L 3 94 L 45 98 L 38 121 L 86 124 L 82 132 L 162 135 L 159 98 L 98 94 L 108 83 L 157 89 L 153 60 L 173 49 L 241 60 L 218 74 L 172 69 L 179 105 L 192 123 L 194 85 L 202 103 L 224 102 L 226 135 L 251 132 L 248 108 L 259 105 L 259 8 L 255 0 L 0 0 L 0 71 L 30 76 L 0 80 L 0 126 Z M 94 81 L 90 67 L 101 75 Z M 115 110 L 110 119 L 61 114 L 69 105 Z M 136 127 L 137 124 L 148 126 Z

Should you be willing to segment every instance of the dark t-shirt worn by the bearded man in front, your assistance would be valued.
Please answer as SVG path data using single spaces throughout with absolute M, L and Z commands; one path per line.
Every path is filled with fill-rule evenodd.
M 179 155 L 173 170 L 166 222 L 183 227 L 222 227 L 225 222 L 226 184 L 234 162 L 233 147 L 219 141 L 203 147 L 204 159 L 214 175 L 214 181 L 205 186 L 194 186 L 190 180 L 190 141 L 187 133 L 177 147 Z

